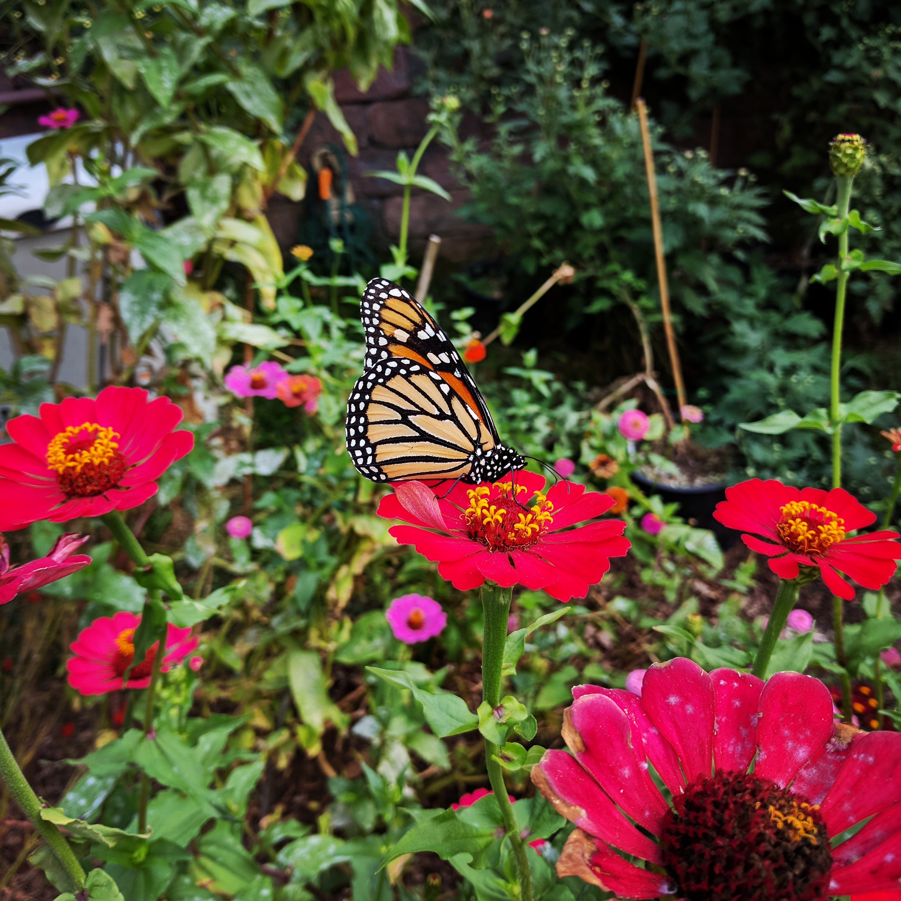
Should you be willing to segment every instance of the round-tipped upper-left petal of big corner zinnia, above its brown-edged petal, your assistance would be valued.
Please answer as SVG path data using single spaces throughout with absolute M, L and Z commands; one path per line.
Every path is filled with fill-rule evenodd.
M 648 775 L 644 754 L 639 757 L 633 748 L 628 717 L 603 695 L 580 697 L 569 710 L 584 748 L 570 745 L 578 762 L 626 815 L 660 835 L 669 805 Z

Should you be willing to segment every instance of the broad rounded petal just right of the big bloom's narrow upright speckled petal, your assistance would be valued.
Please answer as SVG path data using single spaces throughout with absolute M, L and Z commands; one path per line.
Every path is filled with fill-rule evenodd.
M 787 787 L 833 734 L 833 698 L 819 680 L 777 673 L 760 694 L 754 775 Z

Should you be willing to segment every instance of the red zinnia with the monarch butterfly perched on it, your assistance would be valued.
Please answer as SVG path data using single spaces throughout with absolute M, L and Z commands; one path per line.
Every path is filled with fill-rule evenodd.
M 599 516 L 614 499 L 563 481 L 545 496 L 544 477 L 525 470 L 508 478 L 494 485 L 457 485 L 441 500 L 435 496 L 441 487 L 401 482 L 382 498 L 378 515 L 411 523 L 388 532 L 437 561 L 441 578 L 462 591 L 490 578 L 503 587 L 543 588 L 561 601 L 586 596 L 588 586 L 610 569 L 608 558 L 629 550 L 625 523 L 608 519 L 569 526 Z

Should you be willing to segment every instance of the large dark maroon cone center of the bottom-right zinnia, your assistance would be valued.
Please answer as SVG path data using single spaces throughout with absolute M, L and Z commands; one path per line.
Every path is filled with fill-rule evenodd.
M 818 805 L 770 779 L 720 772 L 673 798 L 663 862 L 687 901 L 822 901 L 832 851 Z

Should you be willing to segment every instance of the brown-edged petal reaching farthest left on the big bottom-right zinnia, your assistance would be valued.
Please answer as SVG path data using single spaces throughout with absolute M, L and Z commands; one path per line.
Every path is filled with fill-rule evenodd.
M 567 817 L 571 823 L 575 823 L 589 835 L 610 842 L 621 851 L 637 854 L 654 863 L 663 863 L 660 845 L 651 842 L 651 839 L 626 820 L 572 755 L 566 751 L 545 751 L 538 769 L 544 779 L 535 778 L 533 774 L 532 781 L 558 813 Z M 559 799 L 558 803 L 555 803 L 556 799 Z

